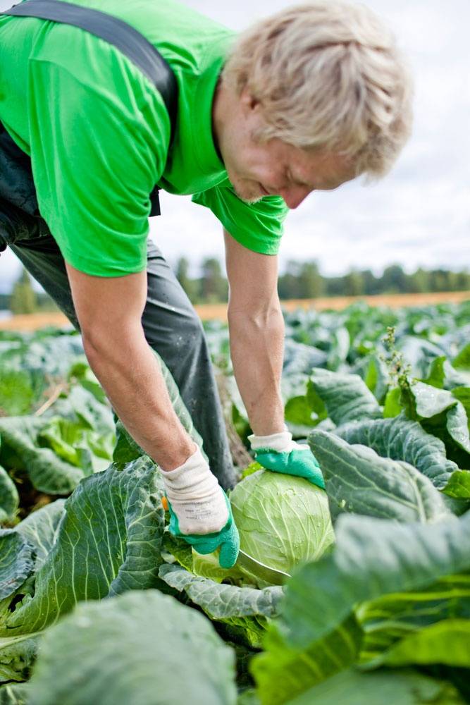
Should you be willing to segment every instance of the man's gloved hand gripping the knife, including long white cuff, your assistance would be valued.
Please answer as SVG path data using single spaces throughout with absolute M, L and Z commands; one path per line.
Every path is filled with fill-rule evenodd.
M 232 568 L 240 538 L 225 492 L 211 473 L 199 448 L 180 467 L 163 472 L 170 532 L 198 553 L 213 553 L 221 547 L 221 568 Z

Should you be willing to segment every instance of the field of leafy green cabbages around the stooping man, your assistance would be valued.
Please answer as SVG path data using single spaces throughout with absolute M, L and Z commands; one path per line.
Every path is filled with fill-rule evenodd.
M 250 464 L 206 324 L 242 548 L 283 585 L 169 534 L 77 333 L 0 331 L 0 705 L 470 702 L 470 302 L 285 323 L 285 418 L 326 495 Z

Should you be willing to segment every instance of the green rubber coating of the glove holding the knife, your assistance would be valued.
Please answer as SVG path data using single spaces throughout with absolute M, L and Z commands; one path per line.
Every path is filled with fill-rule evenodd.
M 166 498 L 168 511 L 170 512 L 171 517 L 168 529 L 173 536 L 185 539 L 187 544 L 194 546 L 194 550 L 197 551 L 197 553 L 214 553 L 216 548 L 220 546 L 221 551 L 218 555 L 218 562 L 221 568 L 232 568 L 236 563 L 238 551 L 240 549 L 240 537 L 233 520 L 232 508 L 230 507 L 230 502 L 228 501 L 225 492 L 223 493 L 223 496 L 225 497 L 225 502 L 227 503 L 228 508 L 228 522 L 220 531 L 213 532 L 211 534 L 182 534 L 180 532 L 178 516 L 173 512 L 171 503 L 168 502 L 168 498 Z

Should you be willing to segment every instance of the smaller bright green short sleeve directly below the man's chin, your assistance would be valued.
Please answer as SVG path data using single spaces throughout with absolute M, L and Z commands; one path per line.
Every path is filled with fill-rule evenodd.
M 228 180 L 192 197 L 210 208 L 235 240 L 261 255 L 277 255 L 283 221 L 289 209 L 280 196 L 266 196 L 257 203 L 243 202 Z

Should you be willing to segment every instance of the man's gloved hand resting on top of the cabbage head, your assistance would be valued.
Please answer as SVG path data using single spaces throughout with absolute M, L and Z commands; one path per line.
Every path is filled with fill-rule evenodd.
M 325 489 L 318 460 L 309 446 L 292 441 L 289 431 L 248 438 L 254 450 L 254 457 L 266 470 L 305 477 L 312 484 Z

